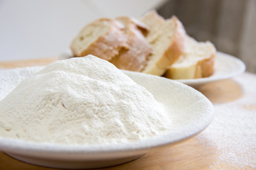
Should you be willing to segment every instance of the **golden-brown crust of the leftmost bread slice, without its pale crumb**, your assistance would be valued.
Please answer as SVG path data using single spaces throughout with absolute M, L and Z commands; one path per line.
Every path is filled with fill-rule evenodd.
M 87 29 L 88 27 L 94 26 L 97 24 L 97 22 L 107 22 L 109 23 L 109 28 L 107 32 L 103 35 L 100 35 L 97 40 L 92 42 L 89 46 L 84 47 L 82 51 L 80 52 L 77 50 L 77 47 L 75 45 L 75 42 L 77 42 L 80 39 L 80 36 L 82 34 L 82 30 Z M 119 54 L 119 50 L 122 48 L 127 49 L 127 37 L 124 35 L 124 27 L 122 26 L 122 23 L 119 23 L 118 21 L 115 21 L 111 18 L 100 18 L 96 21 L 93 21 L 92 23 L 85 26 L 81 32 L 78 34 L 78 36 L 75 37 L 73 42 L 70 45 L 70 49 L 73 51 L 73 54 L 75 57 L 83 57 L 86 55 L 95 55 L 97 57 L 100 57 L 103 60 L 110 61 L 112 57 Z

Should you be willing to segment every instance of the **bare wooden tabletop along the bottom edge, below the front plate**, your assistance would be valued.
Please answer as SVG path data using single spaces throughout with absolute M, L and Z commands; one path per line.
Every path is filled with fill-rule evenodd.
M 117 170 L 117 169 L 210 169 L 210 164 L 213 162 L 214 152 L 212 148 L 206 148 L 200 145 L 197 140 L 192 138 L 186 142 L 173 147 L 164 147 L 164 149 L 156 150 L 145 154 L 143 157 L 122 164 L 112 166 L 101 170 Z M 48 170 L 50 168 L 26 164 L 9 157 L 7 154 L 0 152 L 0 169 L 34 169 Z

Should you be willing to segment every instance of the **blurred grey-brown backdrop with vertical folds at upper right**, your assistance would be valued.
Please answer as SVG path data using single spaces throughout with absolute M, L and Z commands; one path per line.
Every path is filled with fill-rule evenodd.
M 256 73 L 256 0 L 170 0 L 158 11 L 164 18 L 176 15 L 188 35 L 210 40 Z

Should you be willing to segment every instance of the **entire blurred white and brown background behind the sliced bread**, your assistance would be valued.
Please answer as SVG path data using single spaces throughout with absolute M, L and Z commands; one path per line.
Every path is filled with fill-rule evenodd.
M 86 23 L 151 9 L 177 16 L 188 35 L 210 40 L 256 73 L 256 0 L 0 0 L 0 62 L 56 57 Z

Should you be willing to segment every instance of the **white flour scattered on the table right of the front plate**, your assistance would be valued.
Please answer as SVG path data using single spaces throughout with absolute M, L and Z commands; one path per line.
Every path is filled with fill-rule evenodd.
M 249 76 L 235 78 L 238 82 L 248 81 L 242 87 L 244 96 L 238 101 L 214 104 L 213 122 L 196 137 L 216 149 L 218 157 L 211 169 L 218 169 L 219 164 L 233 166 L 231 169 L 256 169 L 256 81 Z

